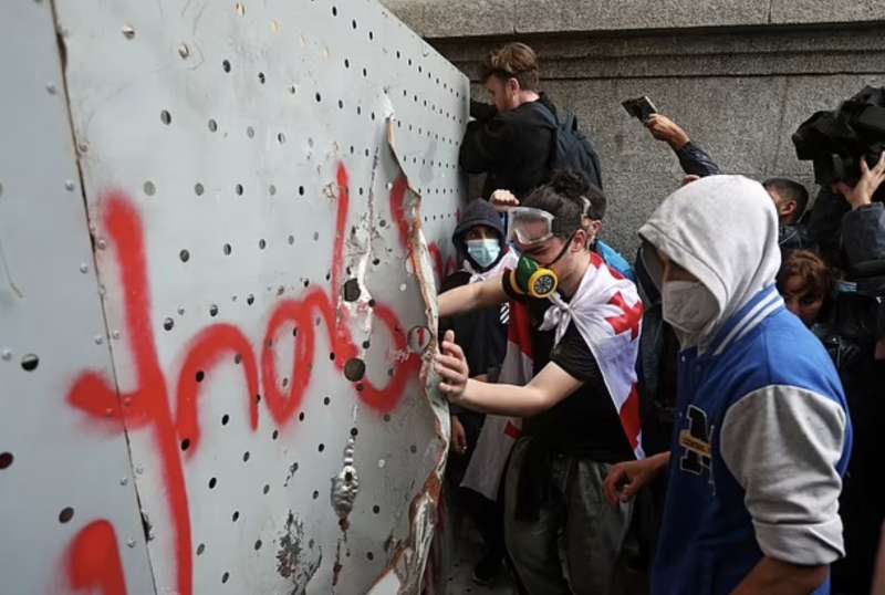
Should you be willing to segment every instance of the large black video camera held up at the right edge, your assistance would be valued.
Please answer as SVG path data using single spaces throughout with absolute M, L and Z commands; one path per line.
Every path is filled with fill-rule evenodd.
M 814 181 L 854 185 L 861 159 L 874 167 L 885 150 L 885 87 L 865 87 L 839 109 L 818 112 L 799 126 L 793 145 L 800 160 L 814 163 Z M 885 186 L 874 197 L 885 200 Z

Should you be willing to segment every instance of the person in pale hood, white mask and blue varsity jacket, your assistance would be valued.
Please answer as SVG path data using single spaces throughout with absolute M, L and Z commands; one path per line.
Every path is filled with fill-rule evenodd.
M 605 491 L 617 508 L 669 467 L 652 592 L 829 593 L 851 424 L 830 357 L 774 286 L 771 198 L 704 178 L 639 236 L 681 345 L 678 428 L 670 452 L 615 466 Z

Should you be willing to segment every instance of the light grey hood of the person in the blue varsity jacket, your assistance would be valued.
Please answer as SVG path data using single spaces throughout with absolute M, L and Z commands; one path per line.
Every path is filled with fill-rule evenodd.
M 676 190 L 639 228 L 639 237 L 698 278 L 719 314 L 693 343 L 704 344 L 781 265 L 778 213 L 762 185 L 743 176 L 709 176 Z M 647 261 L 654 260 L 644 254 Z M 659 269 L 659 263 L 658 263 Z M 649 265 L 660 286 L 659 270 Z

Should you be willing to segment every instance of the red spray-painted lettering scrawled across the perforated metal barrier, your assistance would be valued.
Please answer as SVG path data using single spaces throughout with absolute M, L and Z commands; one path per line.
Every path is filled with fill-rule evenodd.
M 404 180 L 397 180 L 393 195 L 405 192 Z M 198 333 L 188 344 L 184 364 L 175 383 L 175 400 L 160 368 L 150 317 L 150 286 L 147 279 L 145 238 L 140 216 L 123 192 L 102 196 L 106 205 L 103 216 L 111 244 L 116 250 L 119 269 L 124 315 L 128 343 L 135 363 L 135 387 L 119 390 L 113 383 L 94 372 L 82 374 L 67 395 L 67 403 L 108 431 L 148 429 L 159 453 L 168 507 L 175 535 L 176 591 L 181 595 L 192 593 L 191 528 L 188 493 L 185 482 L 184 460 L 192 457 L 200 446 L 199 398 L 200 387 L 211 370 L 232 357 L 241 366 L 244 380 L 243 408 L 252 430 L 259 426 L 259 405 L 262 400 L 278 427 L 288 425 L 301 407 L 311 384 L 311 368 L 315 357 L 319 316 L 325 324 L 335 354 L 335 366 L 343 370 L 346 362 L 360 356 L 348 328 L 350 312 L 337 307 L 344 269 L 344 238 L 350 209 L 347 170 L 337 170 L 337 211 L 335 243 L 332 262 L 331 294 L 312 289 L 300 299 L 283 300 L 275 304 L 261 343 L 260 365 L 249 338 L 231 324 L 214 324 Z M 396 200 L 402 205 L 402 194 Z M 408 225 L 405 213 L 395 213 L 397 223 Z M 408 234 L 400 243 L 412 257 Z M 353 383 L 356 396 L 371 408 L 387 413 L 394 409 L 405 390 L 409 377 L 420 367 L 420 357 L 408 353 L 407 337 L 396 313 L 389 306 L 375 303 L 374 315 L 393 337 L 396 356 L 392 378 L 387 386 L 377 387 L 367 379 Z M 273 345 L 282 330 L 294 332 L 292 383 L 288 393 L 277 382 Z M 230 359 L 227 359 L 228 362 Z M 261 393 L 259 393 L 259 385 Z M 175 411 L 174 411 L 175 409 Z M 125 593 L 116 539 L 111 524 L 98 520 L 83 529 L 74 539 L 69 564 L 69 583 L 73 588 L 98 587 L 104 595 Z M 112 550 L 113 552 L 108 552 Z M 98 555 L 115 563 L 94 564 Z

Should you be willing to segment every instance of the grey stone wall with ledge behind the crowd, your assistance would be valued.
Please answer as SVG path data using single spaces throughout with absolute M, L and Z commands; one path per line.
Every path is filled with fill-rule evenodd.
M 473 81 L 478 60 L 506 41 L 538 51 L 544 91 L 597 146 L 604 236 L 628 254 L 681 170 L 621 101 L 648 95 L 729 173 L 812 189 L 790 135 L 813 112 L 885 85 L 883 0 L 385 1 Z

